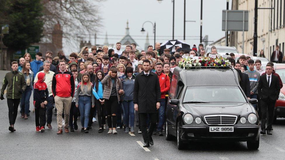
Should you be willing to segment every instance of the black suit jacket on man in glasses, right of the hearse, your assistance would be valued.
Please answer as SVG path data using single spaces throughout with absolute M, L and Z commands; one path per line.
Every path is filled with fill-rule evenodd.
M 263 101 L 271 101 L 274 102 L 278 99 L 280 93 L 280 85 L 279 80 L 276 75 L 272 74 L 270 87 L 268 87 L 268 82 L 266 78 L 266 74 L 260 76 L 258 82 L 258 96 Z

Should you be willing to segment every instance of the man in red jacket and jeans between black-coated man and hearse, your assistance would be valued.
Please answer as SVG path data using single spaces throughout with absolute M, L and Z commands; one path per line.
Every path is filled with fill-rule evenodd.
M 159 108 L 159 114 L 158 114 L 158 124 L 157 124 L 157 134 L 159 136 L 163 136 L 163 125 L 164 125 L 164 117 L 165 117 L 165 94 L 170 89 L 170 80 L 168 75 L 162 73 L 163 67 L 162 63 L 158 62 L 155 65 L 156 74 L 159 79 L 159 85 L 160 85 L 160 92 L 161 92 L 161 101 L 160 101 L 160 108 Z

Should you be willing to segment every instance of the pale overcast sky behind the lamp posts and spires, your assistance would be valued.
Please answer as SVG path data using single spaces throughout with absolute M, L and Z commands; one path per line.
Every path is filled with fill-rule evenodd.
M 186 0 L 186 20 L 196 22 L 186 22 L 185 42 L 198 46 L 200 42 L 200 4 L 201 0 Z M 226 9 L 227 0 L 203 0 L 203 29 L 202 36 L 208 35 L 209 41 L 216 41 L 223 36 L 222 31 L 222 10 Z M 126 22 L 129 22 L 130 35 L 144 48 L 147 32 L 150 36 L 150 44 L 154 44 L 154 34 L 152 24 L 145 23 L 146 32 L 141 33 L 142 23 L 145 21 L 156 22 L 156 41 L 164 42 L 172 39 L 172 15 L 173 3 L 171 0 L 106 0 L 101 2 L 100 16 L 102 17 L 102 27 L 97 33 L 97 44 L 103 44 L 105 34 L 108 34 L 109 44 L 119 41 L 126 31 Z M 231 1 L 230 7 L 231 8 Z M 175 26 L 174 39 L 183 40 L 183 20 L 184 20 L 184 1 L 175 0 Z M 168 36 L 168 37 L 161 37 Z M 188 36 L 188 37 L 187 37 Z M 191 36 L 191 37 L 189 37 Z M 94 44 L 94 36 L 87 37 Z M 78 42 L 79 47 L 79 42 Z M 77 46 L 64 46 L 65 52 L 78 50 Z

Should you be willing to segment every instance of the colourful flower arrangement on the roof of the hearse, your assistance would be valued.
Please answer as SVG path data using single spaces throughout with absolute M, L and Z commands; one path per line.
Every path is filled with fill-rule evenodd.
M 185 57 L 180 60 L 178 63 L 178 66 L 180 68 L 184 67 L 224 67 L 224 66 L 230 66 L 231 63 L 228 59 L 224 59 L 223 57 L 220 58 L 211 58 L 211 57 Z

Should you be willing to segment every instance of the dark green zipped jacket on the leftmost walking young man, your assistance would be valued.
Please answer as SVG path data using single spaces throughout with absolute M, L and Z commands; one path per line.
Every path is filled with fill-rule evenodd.
M 4 95 L 4 90 L 6 89 L 6 87 L 6 98 L 22 98 L 22 92 L 24 92 L 26 89 L 26 81 L 24 75 L 22 73 L 19 73 L 18 70 L 6 73 L 5 78 L 3 80 L 1 95 Z

